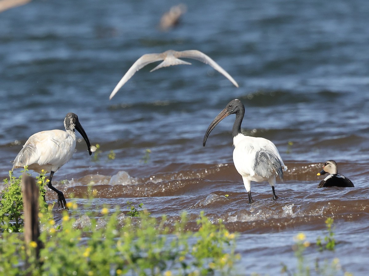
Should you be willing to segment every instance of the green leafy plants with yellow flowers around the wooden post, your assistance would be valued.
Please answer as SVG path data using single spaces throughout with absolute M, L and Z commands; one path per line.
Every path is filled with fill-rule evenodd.
M 119 209 L 109 213 L 106 206 L 100 214 L 81 215 L 80 206 L 69 201 L 60 224 L 42 204 L 39 219 L 44 246 L 36 260 L 34 255 L 26 256 L 23 235 L 10 233 L 22 231 L 23 203 L 20 178 L 10 173 L 6 181 L 9 185 L 0 206 L 6 222 L 1 224 L 6 229 L 0 238 L 0 275 L 229 275 L 239 258 L 234 252 L 236 235 L 221 221 L 211 223 L 203 213 L 197 219 L 198 231 L 192 232 L 185 230 L 185 212 L 169 223 L 165 216 L 151 217 L 146 210 L 137 210 L 143 204 L 136 209 L 127 202 L 130 211 L 123 217 Z M 38 177 L 39 184 L 46 181 L 44 174 Z M 11 200 L 12 204 L 6 203 Z M 40 202 L 44 202 L 42 195 Z M 18 216 L 16 228 L 9 222 L 10 215 L 11 221 Z M 37 244 L 32 241 L 27 246 Z

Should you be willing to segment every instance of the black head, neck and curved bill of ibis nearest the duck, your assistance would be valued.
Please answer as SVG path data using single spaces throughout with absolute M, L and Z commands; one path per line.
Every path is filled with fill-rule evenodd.
M 244 118 L 244 114 L 245 114 L 245 106 L 242 104 L 242 102 L 239 99 L 234 99 L 231 100 L 227 106 L 225 107 L 225 109 L 223 109 L 217 117 L 215 117 L 215 119 L 211 122 L 211 124 L 209 125 L 205 136 L 204 136 L 204 140 L 203 140 L 203 146 L 205 146 L 206 143 L 206 139 L 208 138 L 210 132 L 214 129 L 214 127 L 221 121 L 223 120 L 225 117 L 227 117 L 228 115 L 231 114 L 236 114 L 236 120 L 233 124 L 233 128 L 232 128 L 232 135 L 236 136 L 238 133 L 241 133 L 241 123 L 242 123 L 242 119 Z

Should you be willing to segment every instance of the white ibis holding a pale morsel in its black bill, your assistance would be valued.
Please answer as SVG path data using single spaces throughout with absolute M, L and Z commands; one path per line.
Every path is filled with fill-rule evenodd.
M 46 130 L 37 132 L 28 138 L 23 149 L 18 153 L 13 161 L 13 169 L 28 166 L 28 169 L 41 173 L 42 170 L 50 172 L 48 187 L 58 194 L 58 206 L 66 208 L 66 201 L 61 191 L 51 184 L 52 176 L 55 171 L 72 158 L 76 148 L 75 129 L 85 139 L 89 154 L 96 150 L 95 146 L 90 145 L 89 138 L 78 117 L 74 113 L 68 113 L 64 119 L 65 131 Z M 12 170 L 13 170 L 12 169 Z

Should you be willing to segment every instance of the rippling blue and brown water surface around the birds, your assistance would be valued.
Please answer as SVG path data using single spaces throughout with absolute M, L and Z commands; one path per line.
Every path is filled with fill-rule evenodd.
M 175 3 L 32 1 L 1 13 L 1 177 L 28 137 L 63 129 L 74 112 L 100 149 L 90 157 L 77 133 L 73 158 L 53 178 L 67 201 L 83 198 L 93 182 L 93 209 L 124 211 L 130 200 L 169 219 L 183 210 L 196 219 L 203 210 L 240 233 L 241 275 L 276 275 L 281 262 L 293 268 L 293 236 L 303 231 L 314 243 L 333 217 L 335 252 L 308 248 L 308 260 L 338 257 L 345 270 L 366 275 L 369 2 L 187 1 L 180 24 L 159 31 Z M 142 54 L 168 49 L 206 53 L 240 87 L 187 60 L 191 66 L 151 73 L 157 64 L 150 64 L 108 99 Z M 274 142 L 289 168 L 277 201 L 269 184 L 252 183 L 248 204 L 232 161 L 234 116 L 202 146 L 208 125 L 235 98 L 245 105 L 244 133 Z M 328 159 L 355 188 L 317 189 Z

